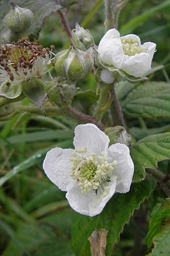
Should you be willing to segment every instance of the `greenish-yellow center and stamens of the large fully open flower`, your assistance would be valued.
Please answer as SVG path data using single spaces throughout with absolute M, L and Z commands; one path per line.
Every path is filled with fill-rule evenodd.
M 71 154 L 70 162 L 72 163 L 70 176 L 79 184 L 82 193 L 86 193 L 103 187 L 104 183 L 111 181 L 113 169 L 117 162 L 108 162 L 105 152 L 100 155 L 91 153 L 87 155 L 87 148 L 75 149 Z

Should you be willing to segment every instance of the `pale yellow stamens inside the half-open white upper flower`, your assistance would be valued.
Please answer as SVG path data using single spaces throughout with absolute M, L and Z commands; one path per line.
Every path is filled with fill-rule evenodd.
M 121 42 L 125 55 L 133 56 L 137 53 L 146 52 L 146 49 L 141 46 L 137 38 L 126 36 L 121 38 Z

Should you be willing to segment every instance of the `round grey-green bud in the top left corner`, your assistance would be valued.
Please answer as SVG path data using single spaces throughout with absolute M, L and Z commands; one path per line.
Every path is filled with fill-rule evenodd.
M 31 10 L 21 8 L 11 3 L 12 10 L 3 19 L 4 25 L 13 32 L 24 32 L 31 26 L 33 13 Z

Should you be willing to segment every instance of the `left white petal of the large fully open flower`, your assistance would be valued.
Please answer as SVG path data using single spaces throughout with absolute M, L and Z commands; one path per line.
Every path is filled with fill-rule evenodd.
M 67 191 L 67 185 L 75 182 L 70 177 L 70 154 L 74 152 L 72 149 L 63 149 L 60 147 L 52 148 L 48 151 L 43 168 L 46 176 L 62 191 Z

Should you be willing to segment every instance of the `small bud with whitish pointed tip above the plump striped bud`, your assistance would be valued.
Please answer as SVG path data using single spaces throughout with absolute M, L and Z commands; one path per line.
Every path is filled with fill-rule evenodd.
M 75 29 L 72 30 L 72 36 L 73 46 L 82 51 L 85 51 L 94 45 L 94 39 L 90 34 L 90 31 L 80 27 L 78 23 L 75 24 Z

